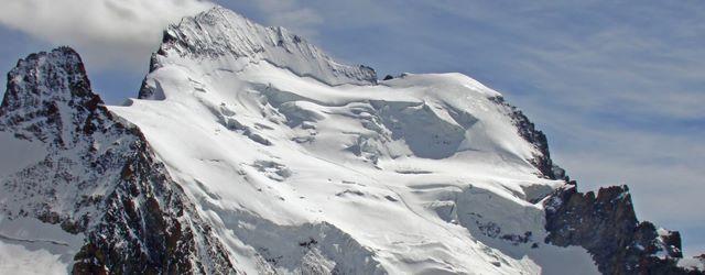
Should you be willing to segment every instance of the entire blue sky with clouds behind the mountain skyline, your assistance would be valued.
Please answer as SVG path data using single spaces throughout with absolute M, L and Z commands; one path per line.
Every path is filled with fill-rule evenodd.
M 0 11 L 0 69 L 68 44 L 94 87 L 120 103 L 137 95 L 161 29 L 206 7 L 96 0 L 86 15 L 80 2 L 10 0 Z M 381 76 L 478 79 L 546 132 L 554 161 L 582 190 L 628 184 L 640 219 L 680 230 L 686 253 L 705 252 L 704 1 L 218 2 Z

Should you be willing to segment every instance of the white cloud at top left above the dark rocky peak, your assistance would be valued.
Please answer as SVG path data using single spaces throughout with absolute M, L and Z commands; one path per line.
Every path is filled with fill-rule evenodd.
M 199 0 L 3 0 L 0 24 L 76 47 L 90 69 L 145 69 L 167 24 L 210 6 Z

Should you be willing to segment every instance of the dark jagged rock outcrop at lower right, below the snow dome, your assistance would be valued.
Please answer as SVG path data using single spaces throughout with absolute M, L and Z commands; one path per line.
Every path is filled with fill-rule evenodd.
M 603 274 L 702 274 L 676 266 L 681 235 L 639 222 L 627 186 L 578 193 L 575 182 L 544 200 L 546 243 L 585 248 Z

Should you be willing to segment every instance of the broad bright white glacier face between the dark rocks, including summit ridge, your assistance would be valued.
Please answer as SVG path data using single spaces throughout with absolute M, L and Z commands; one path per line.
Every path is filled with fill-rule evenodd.
M 153 56 L 143 99 L 109 107 L 243 271 L 597 272 L 583 249 L 543 244 L 534 202 L 563 183 L 542 177 L 542 152 L 500 94 L 459 74 L 360 85 L 302 73 L 335 62 L 270 57 L 289 54 L 275 30 L 223 9 L 185 19 Z

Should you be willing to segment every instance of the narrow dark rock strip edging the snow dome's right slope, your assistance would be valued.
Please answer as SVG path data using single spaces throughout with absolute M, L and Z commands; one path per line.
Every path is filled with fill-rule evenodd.
M 557 165 L 553 164 L 551 161 L 551 153 L 549 152 L 549 141 L 546 140 L 546 135 L 536 130 L 533 122 L 524 116 L 524 113 L 505 101 L 502 97 L 494 97 L 490 100 L 495 101 L 495 103 L 503 106 L 509 110 L 509 116 L 512 118 L 514 125 L 517 127 L 519 134 L 527 140 L 529 143 L 533 144 L 536 150 L 539 150 L 540 154 L 535 155 L 533 158 L 533 165 L 541 172 L 541 174 L 550 179 L 567 179 L 565 175 L 565 170 Z

